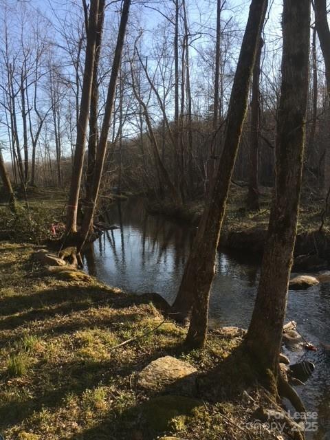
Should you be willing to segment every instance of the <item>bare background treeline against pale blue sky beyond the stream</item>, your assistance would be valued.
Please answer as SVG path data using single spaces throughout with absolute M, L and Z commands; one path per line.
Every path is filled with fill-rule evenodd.
M 107 183 L 157 195 L 173 186 L 172 192 L 188 199 L 206 192 L 219 164 L 243 21 L 226 0 L 212 3 L 213 19 L 203 25 L 196 19 L 192 0 L 142 3 L 134 5 L 122 52 L 105 159 Z M 14 186 L 69 185 L 89 9 L 86 1 L 78 0 L 64 10 L 56 5 L 34 10 L 32 3 L 4 4 L 1 145 Z M 208 6 L 202 2 L 199 9 L 203 17 Z M 144 18 L 145 11 L 152 12 L 156 27 Z M 113 23 L 118 23 L 119 14 L 118 3 L 108 8 L 102 22 L 90 144 L 98 135 L 93 134 L 95 127 L 102 124 L 115 52 L 113 35 L 118 30 Z M 312 25 L 304 182 L 317 189 L 330 183 L 329 102 L 324 61 Z M 233 176 L 250 186 L 252 181 L 254 186 L 274 183 L 281 35 L 268 36 L 271 24 L 265 26 L 259 74 L 254 72 L 258 78 L 251 79 L 250 106 Z M 84 170 L 83 181 L 89 175 L 87 157 Z

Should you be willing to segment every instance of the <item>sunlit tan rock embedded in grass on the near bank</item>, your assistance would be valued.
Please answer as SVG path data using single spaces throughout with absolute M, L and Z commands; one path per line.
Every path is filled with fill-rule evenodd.
M 186 395 L 195 393 L 197 369 L 173 356 L 164 356 L 148 364 L 137 375 L 137 386 L 150 391 L 175 388 Z

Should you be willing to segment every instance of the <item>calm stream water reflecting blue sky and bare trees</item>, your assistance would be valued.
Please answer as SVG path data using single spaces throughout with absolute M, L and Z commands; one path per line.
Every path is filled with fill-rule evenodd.
M 87 270 L 127 292 L 157 292 L 173 303 L 195 230 L 160 216 L 148 215 L 143 199 L 113 204 L 107 221 L 118 229 L 104 233 L 86 258 Z M 259 259 L 251 254 L 218 252 L 210 298 L 210 327 L 247 328 L 259 281 Z M 289 292 L 287 320 L 318 345 L 330 344 L 330 283 Z M 316 365 L 305 386 L 298 387 L 307 411 L 317 412 L 309 439 L 330 440 L 330 351 L 290 352 L 292 363 Z

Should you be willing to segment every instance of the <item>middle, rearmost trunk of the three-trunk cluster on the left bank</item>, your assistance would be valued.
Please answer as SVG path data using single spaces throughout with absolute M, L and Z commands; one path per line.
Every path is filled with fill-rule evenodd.
M 99 0 L 98 29 L 96 36 L 96 54 L 94 62 L 93 83 L 91 85 L 91 113 L 89 116 L 88 162 L 86 172 L 86 199 L 90 197 L 91 183 L 98 145 L 98 64 L 100 62 L 102 31 L 104 23 L 105 0 Z

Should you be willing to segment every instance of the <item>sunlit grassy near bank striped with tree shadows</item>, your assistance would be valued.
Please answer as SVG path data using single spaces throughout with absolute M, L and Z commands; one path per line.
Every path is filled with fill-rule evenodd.
M 32 258 L 37 249 L 0 242 L 6 440 L 289 438 L 269 428 L 268 416 L 260 421 L 276 404 L 255 384 L 237 381 L 244 371 L 229 360 L 243 331 L 219 329 L 205 350 L 184 353 L 186 330 L 153 305 L 87 274 L 49 270 Z M 140 372 L 166 356 L 196 370 L 191 386 L 142 386 Z

